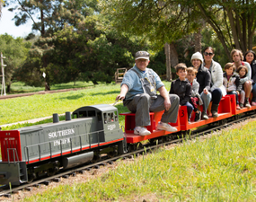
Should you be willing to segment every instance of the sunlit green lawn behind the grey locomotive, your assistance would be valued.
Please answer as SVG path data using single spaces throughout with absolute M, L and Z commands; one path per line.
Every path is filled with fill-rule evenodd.
M 170 89 L 170 83 L 164 82 Z M 65 85 L 65 84 L 64 84 Z M 120 92 L 119 84 L 98 84 L 79 91 L 58 92 L 0 100 L 0 126 L 23 120 L 63 114 L 93 104 L 112 104 Z M 121 103 L 121 101 L 119 101 Z M 119 106 L 119 104 L 117 104 Z M 127 110 L 121 110 L 123 112 Z M 50 121 L 50 120 L 49 120 Z M 22 125 L 21 125 L 22 127 Z

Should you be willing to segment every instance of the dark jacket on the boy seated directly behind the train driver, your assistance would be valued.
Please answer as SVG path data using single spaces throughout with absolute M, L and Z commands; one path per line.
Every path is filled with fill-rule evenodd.
M 171 83 L 170 94 L 177 94 L 180 97 L 180 104 L 184 105 L 187 101 L 190 101 L 191 97 L 191 84 L 186 79 L 185 81 L 181 81 L 179 78 Z

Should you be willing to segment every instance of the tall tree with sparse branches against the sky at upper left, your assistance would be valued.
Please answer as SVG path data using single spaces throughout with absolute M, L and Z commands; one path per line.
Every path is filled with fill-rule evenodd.
M 14 3 L 14 4 L 13 4 Z M 40 31 L 40 41 L 34 46 L 31 52 L 40 52 L 40 69 L 47 71 L 49 68 L 49 51 L 53 35 L 61 31 L 65 26 L 76 26 L 84 18 L 94 12 L 97 12 L 97 0 L 19 0 L 19 6 L 15 5 L 15 0 L 8 1 L 8 4 L 14 5 L 9 11 L 15 12 L 14 20 L 17 26 L 32 20 L 32 30 Z M 33 35 L 30 34 L 28 39 Z M 44 42 L 42 42 L 44 40 Z M 40 45 L 42 45 L 40 47 Z M 49 74 L 47 73 L 46 83 L 49 84 Z

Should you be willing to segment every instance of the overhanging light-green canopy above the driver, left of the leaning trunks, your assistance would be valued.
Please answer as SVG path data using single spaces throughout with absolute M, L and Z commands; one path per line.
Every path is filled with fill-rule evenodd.
M 119 31 L 146 36 L 154 47 L 163 48 L 165 42 L 181 39 L 197 28 L 199 14 L 188 7 L 187 1 L 101 1 L 106 15 Z

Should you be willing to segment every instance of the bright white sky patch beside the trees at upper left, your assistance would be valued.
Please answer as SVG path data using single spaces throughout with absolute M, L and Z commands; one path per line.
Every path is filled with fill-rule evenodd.
M 2 17 L 0 19 L 0 34 L 7 33 L 9 35 L 12 35 L 14 38 L 17 38 L 17 37 L 24 38 L 29 33 L 31 33 L 32 21 L 17 27 L 14 24 L 14 21 L 12 21 L 13 17 L 14 17 L 14 13 L 9 12 L 8 8 L 3 7 Z

